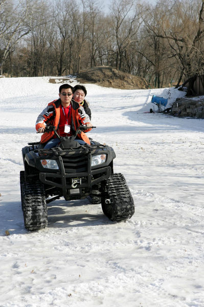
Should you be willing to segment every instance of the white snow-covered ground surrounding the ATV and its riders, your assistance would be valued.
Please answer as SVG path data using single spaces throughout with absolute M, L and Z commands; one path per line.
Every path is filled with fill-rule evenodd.
M 101 205 L 60 199 L 48 228 L 29 232 L 21 148 L 39 140 L 36 118 L 58 98 L 60 80 L 48 80 L 0 79 L 0 307 L 203 307 L 204 121 L 145 113 L 152 95 L 170 104 L 185 93 L 86 84 L 89 136 L 114 147 L 135 214 L 112 223 Z

